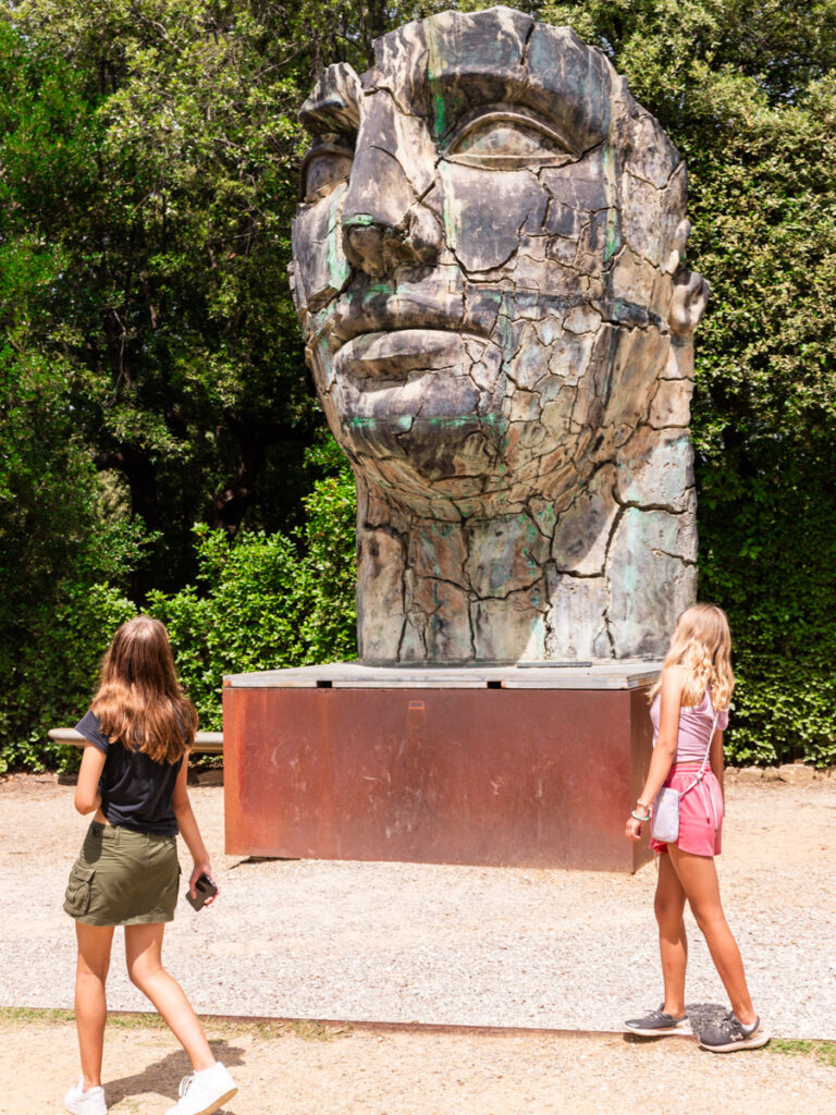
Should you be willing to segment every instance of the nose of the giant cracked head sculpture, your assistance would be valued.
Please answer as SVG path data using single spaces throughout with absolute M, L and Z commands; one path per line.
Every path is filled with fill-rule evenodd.
M 404 264 L 432 264 L 441 248 L 441 229 L 418 202 L 416 183 L 431 180 L 434 158 L 424 145 L 405 136 L 388 93 L 368 97 L 367 106 L 342 206 L 346 255 L 375 277 Z

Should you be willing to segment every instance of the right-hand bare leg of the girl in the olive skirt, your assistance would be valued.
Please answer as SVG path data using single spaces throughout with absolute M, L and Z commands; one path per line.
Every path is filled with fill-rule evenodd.
M 147 996 L 188 1054 L 196 1073 L 212 1068 L 215 1058 L 203 1027 L 183 988 L 163 968 L 165 923 L 125 927 L 125 959 L 132 983 Z

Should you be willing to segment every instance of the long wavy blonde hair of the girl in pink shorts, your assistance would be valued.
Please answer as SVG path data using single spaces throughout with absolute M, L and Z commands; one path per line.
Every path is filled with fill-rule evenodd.
M 711 687 L 711 704 L 716 709 L 727 709 L 735 690 L 731 670 L 731 631 L 729 620 L 717 604 L 693 604 L 687 608 L 673 630 L 671 646 L 664 657 L 662 670 L 681 666 L 686 671 L 682 704 L 699 705 L 706 688 Z M 651 687 L 653 700 L 662 687 L 661 675 Z

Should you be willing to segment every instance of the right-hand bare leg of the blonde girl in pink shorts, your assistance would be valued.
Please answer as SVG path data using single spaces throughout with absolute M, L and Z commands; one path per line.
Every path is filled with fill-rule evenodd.
M 668 845 L 668 852 L 697 924 L 706 938 L 715 968 L 731 1002 L 731 1009 L 741 1022 L 750 1026 L 757 1015 L 749 998 L 740 949 L 722 912 L 715 861 L 711 856 L 682 852 L 672 844 Z

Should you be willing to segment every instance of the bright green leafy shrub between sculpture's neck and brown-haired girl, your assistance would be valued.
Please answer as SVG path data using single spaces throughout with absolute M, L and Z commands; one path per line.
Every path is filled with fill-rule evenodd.
M 354 482 L 343 466 L 303 501 L 300 537 L 195 527 L 197 583 L 154 592 L 201 727 L 222 726 L 225 673 L 337 661 L 357 653 Z

